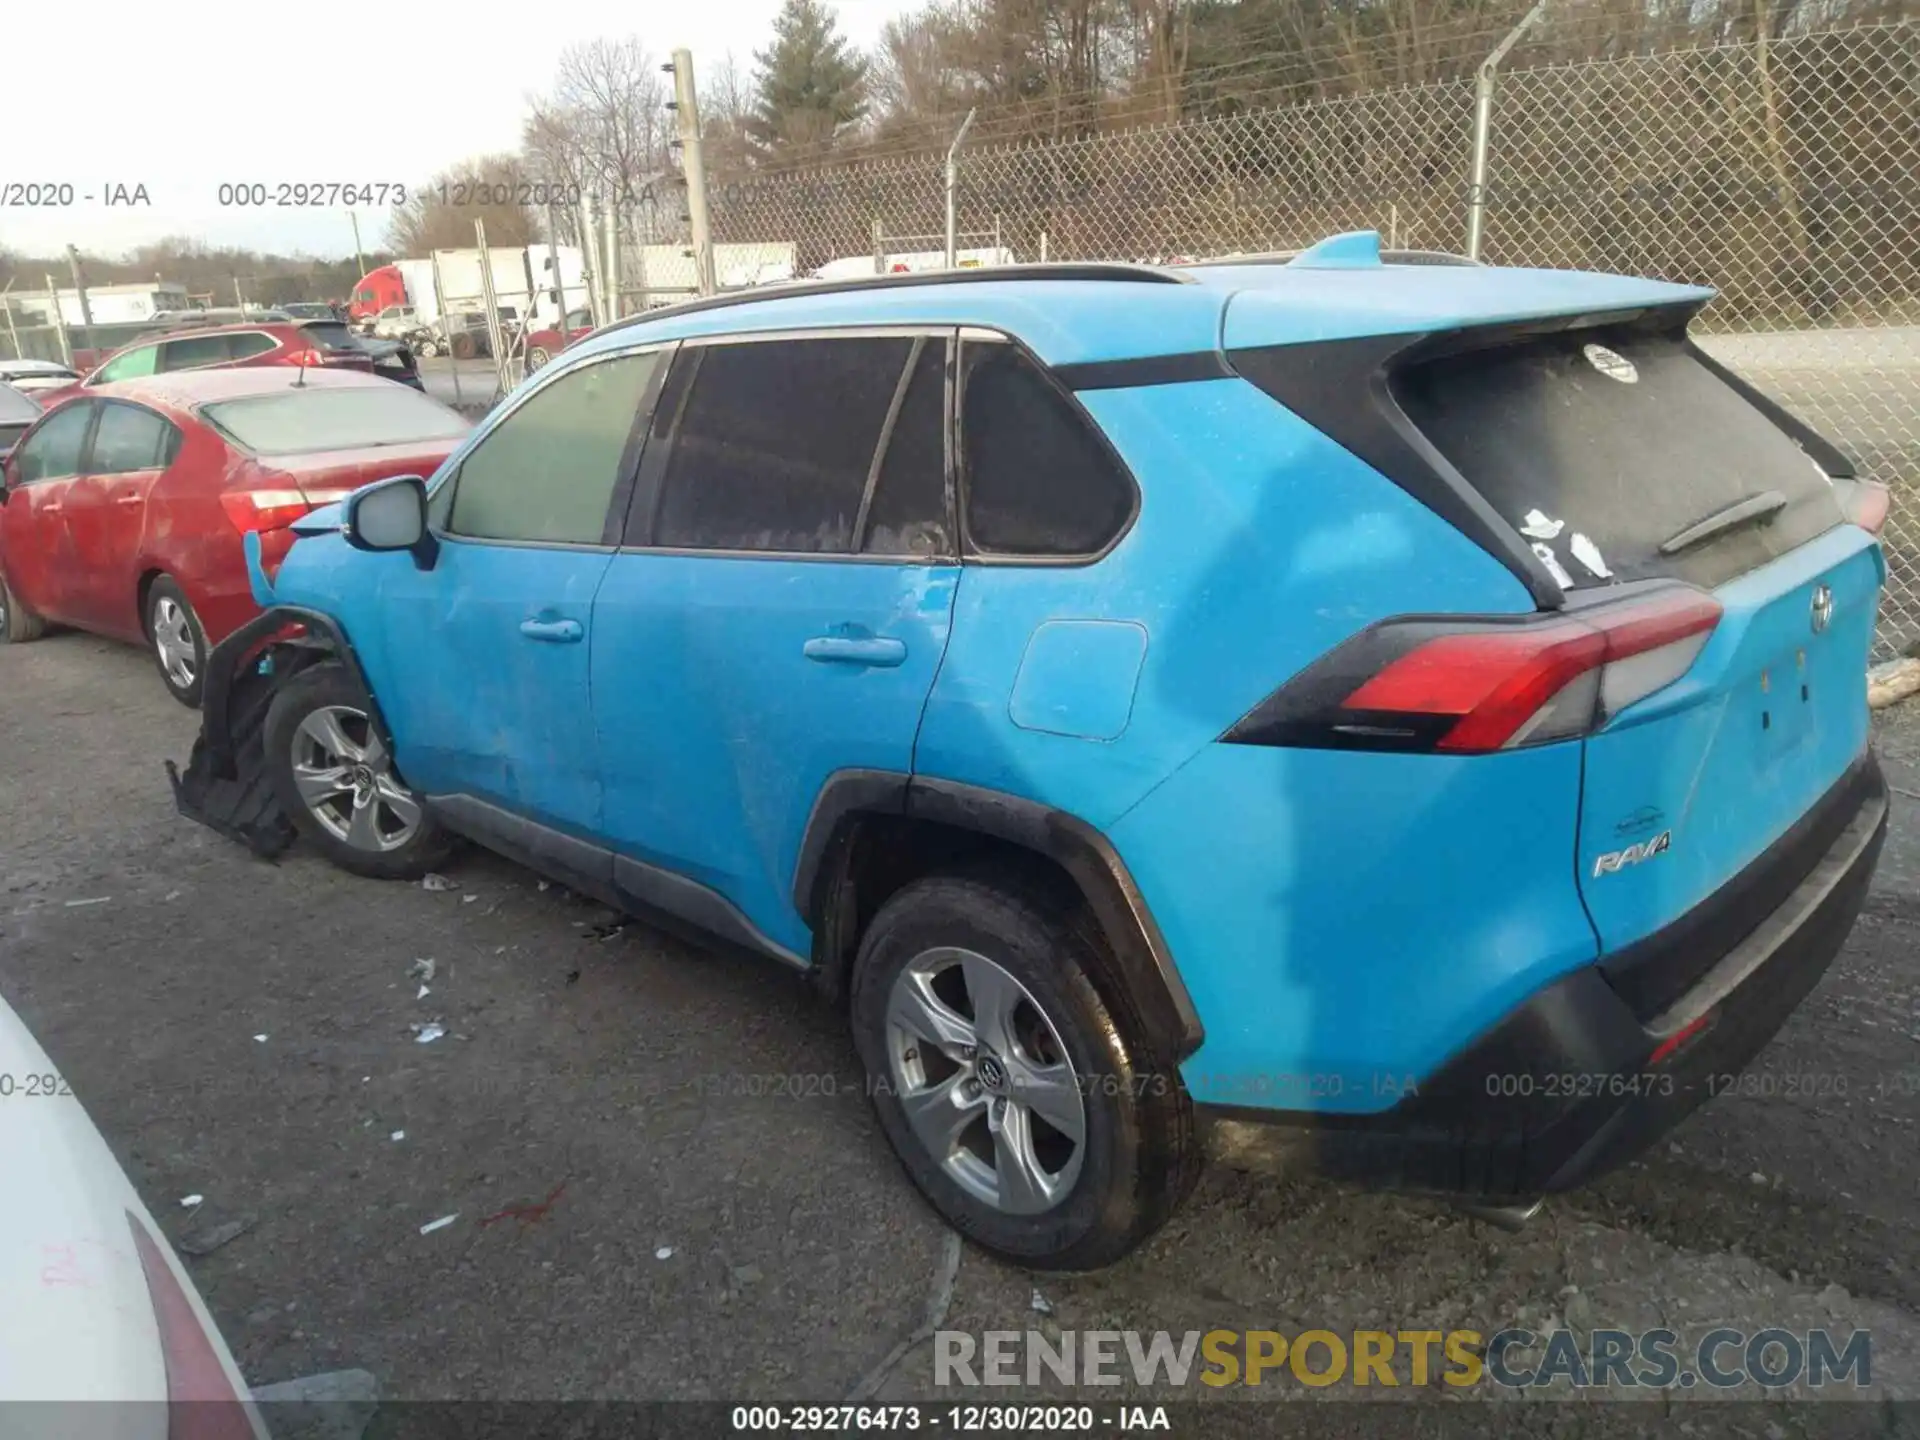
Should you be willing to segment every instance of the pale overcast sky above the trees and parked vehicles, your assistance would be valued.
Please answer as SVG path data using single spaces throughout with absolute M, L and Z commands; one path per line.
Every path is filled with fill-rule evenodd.
M 221 182 L 417 184 L 465 156 L 518 148 L 526 98 L 547 86 L 568 44 L 639 35 L 662 61 L 689 48 L 695 73 L 728 50 L 745 71 L 778 8 L 780 0 L 86 0 L 79 23 L 69 6 L 13 6 L 0 92 L 8 115 L 0 244 L 56 253 L 71 242 L 109 255 L 192 234 L 351 255 L 346 211 L 223 209 Z M 904 8 L 837 4 L 843 33 L 860 46 Z M 8 194 L 46 180 L 71 184 L 75 204 L 23 207 Z M 115 184 L 144 184 L 152 204 L 104 204 Z M 361 211 L 359 221 L 369 248 L 384 238 L 384 213 Z

